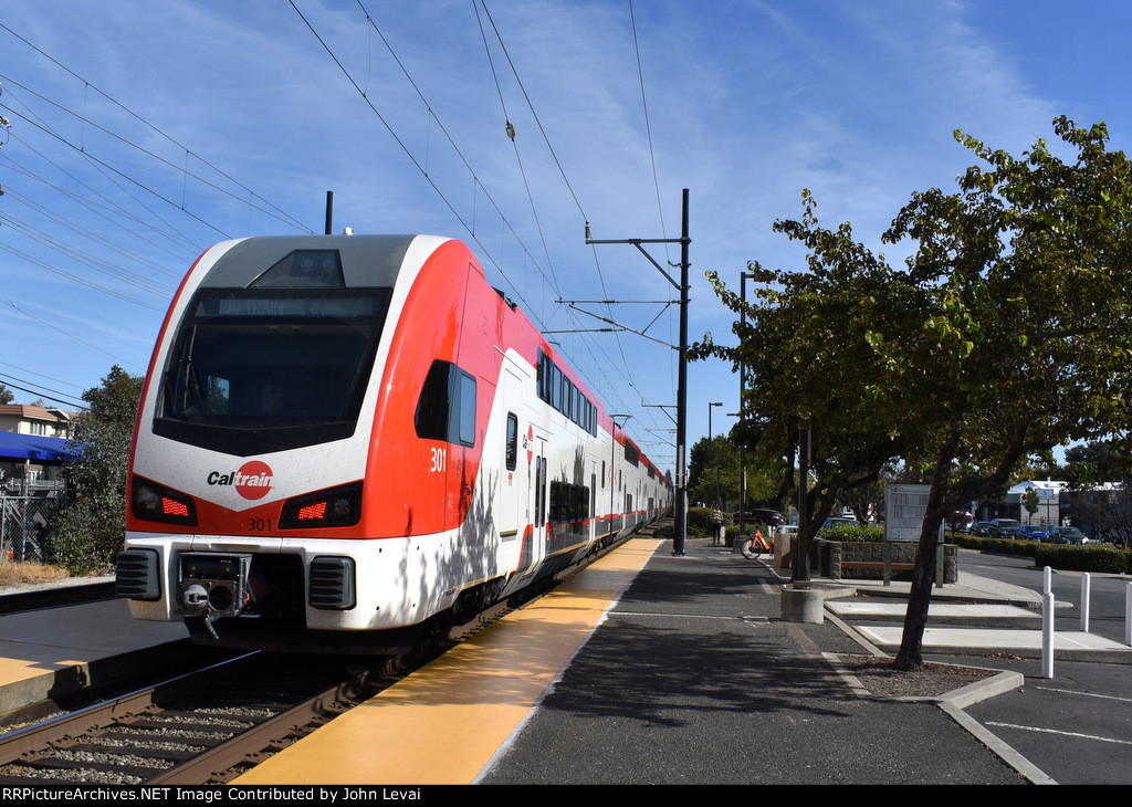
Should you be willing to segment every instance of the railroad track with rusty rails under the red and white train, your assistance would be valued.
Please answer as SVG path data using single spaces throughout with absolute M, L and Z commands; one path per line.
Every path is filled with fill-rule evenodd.
M 0 784 L 229 782 L 616 546 L 404 655 L 344 660 L 250 652 L 0 736 Z

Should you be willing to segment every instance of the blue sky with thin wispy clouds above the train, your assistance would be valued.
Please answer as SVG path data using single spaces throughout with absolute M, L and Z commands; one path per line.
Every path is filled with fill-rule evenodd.
M 547 330 L 604 324 L 559 300 L 666 301 L 628 246 L 679 235 L 689 335 L 730 341 L 704 281 L 791 268 L 772 232 L 811 189 L 826 226 L 880 234 L 916 190 L 1013 153 L 1060 114 L 1132 145 L 1132 5 L 1116 0 L 5 0 L 0 381 L 78 401 L 140 374 L 211 243 L 334 229 L 461 238 Z M 514 126 L 514 141 L 506 122 Z M 649 248 L 662 265 L 677 247 Z M 675 273 L 675 269 L 671 269 Z M 675 344 L 675 306 L 580 304 Z M 674 465 L 675 351 L 559 333 L 658 464 Z M 729 428 L 738 383 L 689 368 L 688 445 Z M 25 387 L 32 392 L 24 392 Z M 65 404 L 66 405 L 66 404 Z

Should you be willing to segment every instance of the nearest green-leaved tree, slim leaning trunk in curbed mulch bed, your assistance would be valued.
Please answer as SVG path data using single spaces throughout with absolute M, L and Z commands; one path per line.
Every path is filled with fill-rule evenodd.
M 917 242 L 917 310 L 871 336 L 891 370 L 878 393 L 916 414 L 900 430 L 932 470 L 900 669 L 923 664 L 943 516 L 1001 490 L 1026 457 L 1129 427 L 1132 163 L 1106 149 L 1104 125 L 1063 117 L 1054 130 L 1072 162 L 1044 140 L 1015 158 L 957 131 L 988 168 L 968 169 L 958 194 L 915 194 L 884 235 Z

